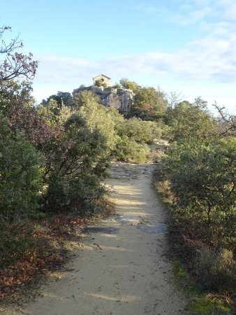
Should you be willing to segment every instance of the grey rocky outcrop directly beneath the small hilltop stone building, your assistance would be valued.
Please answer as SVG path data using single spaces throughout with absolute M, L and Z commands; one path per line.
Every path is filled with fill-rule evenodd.
M 114 107 L 121 113 L 124 113 L 124 115 L 127 115 L 131 110 L 134 97 L 132 90 L 91 85 L 89 87 L 79 87 L 78 89 L 73 90 L 73 96 L 84 90 L 89 90 L 98 95 L 98 97 L 101 99 L 101 103 L 104 106 Z

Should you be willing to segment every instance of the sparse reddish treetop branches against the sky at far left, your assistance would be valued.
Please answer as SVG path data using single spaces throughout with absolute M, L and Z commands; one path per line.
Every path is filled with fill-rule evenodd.
M 0 27 L 0 39 L 3 38 L 6 31 L 10 31 L 9 26 Z M 38 62 L 34 61 L 31 52 L 29 55 L 15 52 L 18 48 L 22 48 L 23 43 L 19 37 L 13 38 L 11 41 L 6 42 L 1 40 L 0 55 L 3 62 L 0 64 L 0 85 L 13 80 L 14 78 L 25 77 L 28 79 L 34 78 Z

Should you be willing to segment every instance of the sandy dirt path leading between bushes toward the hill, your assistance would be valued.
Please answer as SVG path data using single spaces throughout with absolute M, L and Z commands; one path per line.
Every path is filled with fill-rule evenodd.
M 166 255 L 165 214 L 152 189 L 154 165 L 112 167 L 117 215 L 82 231 L 82 250 L 52 274 L 42 296 L 7 315 L 185 314 Z

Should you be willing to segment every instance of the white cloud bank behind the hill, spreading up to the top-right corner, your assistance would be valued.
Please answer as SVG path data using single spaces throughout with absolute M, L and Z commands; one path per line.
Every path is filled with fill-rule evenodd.
M 196 24 L 200 31 L 198 38 L 193 38 L 182 49 L 172 53 L 153 51 L 97 60 L 36 56 L 40 61 L 34 80 L 36 97 L 42 99 L 57 90 L 71 91 L 82 83 L 90 85 L 93 76 L 104 73 L 112 78 L 128 77 L 137 81 L 136 78 L 156 78 L 157 84 L 165 80 L 178 81 L 182 85 L 192 81 L 193 86 L 198 83 L 200 87 L 202 84 L 203 90 L 204 81 L 217 86 L 216 89 L 212 87 L 211 94 L 216 94 L 216 99 L 218 95 L 219 99 L 226 99 L 226 102 L 233 104 L 233 99 L 236 101 L 236 91 L 230 92 L 226 83 L 231 88 L 236 83 L 236 22 L 233 20 L 233 15 L 236 16 L 235 0 L 176 1 L 179 3 L 178 13 L 167 10 L 166 6 L 153 6 L 147 2 L 139 3 L 138 9 L 154 16 L 161 15 L 181 25 Z M 140 83 L 152 84 L 148 81 Z M 227 92 L 221 91 L 220 94 L 220 83 Z M 170 87 L 170 90 L 173 89 L 175 88 Z M 230 95 L 228 101 L 227 95 Z M 194 95 L 197 96 L 198 93 Z

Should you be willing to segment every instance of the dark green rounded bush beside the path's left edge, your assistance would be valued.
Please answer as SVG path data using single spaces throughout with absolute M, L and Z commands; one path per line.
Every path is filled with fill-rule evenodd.
M 95 214 L 105 194 L 100 181 L 108 167 L 108 138 L 76 112 L 64 123 L 61 137 L 45 148 L 45 208 Z

